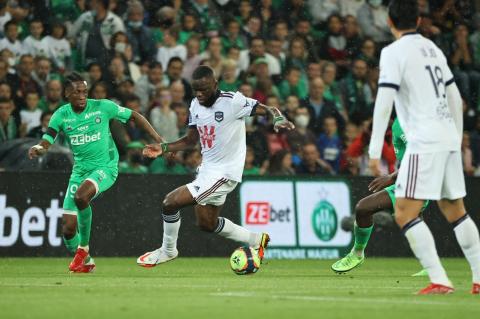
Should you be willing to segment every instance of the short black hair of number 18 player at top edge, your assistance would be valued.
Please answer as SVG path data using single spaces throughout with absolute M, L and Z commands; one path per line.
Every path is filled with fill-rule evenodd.
M 398 30 L 415 29 L 419 16 L 417 0 L 390 1 L 388 16 Z

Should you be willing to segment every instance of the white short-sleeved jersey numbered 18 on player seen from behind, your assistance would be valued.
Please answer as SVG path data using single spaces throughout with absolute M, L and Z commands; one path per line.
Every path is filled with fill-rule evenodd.
M 378 85 L 398 91 L 395 110 L 410 153 L 460 150 L 446 98 L 453 82 L 442 51 L 420 34 L 404 34 L 382 50 Z

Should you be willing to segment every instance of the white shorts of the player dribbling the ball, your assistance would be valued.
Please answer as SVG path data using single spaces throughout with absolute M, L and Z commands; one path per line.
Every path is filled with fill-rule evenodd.
M 193 182 L 187 184 L 187 188 L 198 204 L 221 206 L 237 184 L 227 178 L 199 173 Z

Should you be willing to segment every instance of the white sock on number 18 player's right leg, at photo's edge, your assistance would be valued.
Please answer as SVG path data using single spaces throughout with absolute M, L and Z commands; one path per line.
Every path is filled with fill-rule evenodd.
M 452 224 L 455 236 L 472 269 L 472 280 L 480 283 L 480 237 L 473 220 L 465 214 Z

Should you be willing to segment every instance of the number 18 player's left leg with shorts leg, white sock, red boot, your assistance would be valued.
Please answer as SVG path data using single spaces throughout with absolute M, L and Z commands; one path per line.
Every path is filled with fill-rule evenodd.
M 450 293 L 452 284 L 440 263 L 433 235 L 419 218 L 425 199 L 438 199 L 441 194 L 446 152 L 405 155 L 396 182 L 395 221 L 410 248 L 427 270 L 431 285 L 419 294 Z

